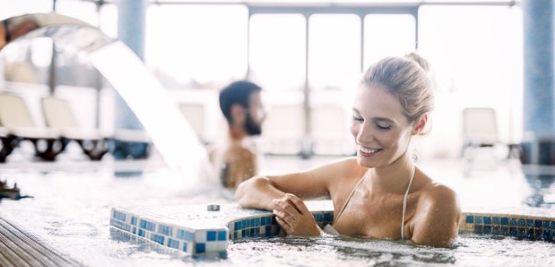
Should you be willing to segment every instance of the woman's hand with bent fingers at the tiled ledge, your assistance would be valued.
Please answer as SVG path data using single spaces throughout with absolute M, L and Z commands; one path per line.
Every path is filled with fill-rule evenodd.
M 287 234 L 295 236 L 319 236 L 321 234 L 314 216 L 297 196 L 286 193 L 282 198 L 274 199 L 273 205 L 275 220 Z

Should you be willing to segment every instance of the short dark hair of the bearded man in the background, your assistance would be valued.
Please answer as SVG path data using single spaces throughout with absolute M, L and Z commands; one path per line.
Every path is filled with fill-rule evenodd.
M 228 120 L 228 123 L 232 123 L 231 106 L 237 103 L 244 108 L 248 108 L 250 94 L 260 90 L 262 90 L 262 87 L 246 80 L 239 80 L 231 83 L 221 90 L 220 109 L 223 117 Z

